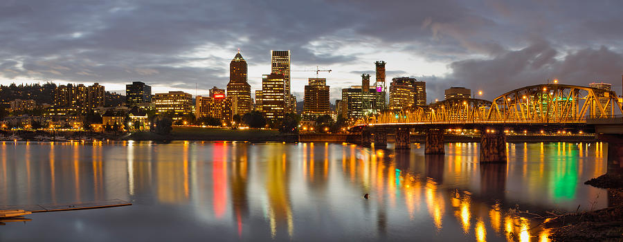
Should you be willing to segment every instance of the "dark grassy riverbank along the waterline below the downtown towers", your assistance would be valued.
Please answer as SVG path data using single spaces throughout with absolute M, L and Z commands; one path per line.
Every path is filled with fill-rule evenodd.
M 135 132 L 124 136 L 122 140 L 224 140 L 224 141 L 249 141 L 249 142 L 296 142 L 297 135 L 282 134 L 268 129 L 219 129 L 201 127 L 173 127 L 167 136 L 152 132 Z

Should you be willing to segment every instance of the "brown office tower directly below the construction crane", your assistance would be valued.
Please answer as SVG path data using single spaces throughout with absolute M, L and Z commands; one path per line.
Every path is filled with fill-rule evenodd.
M 303 115 L 309 120 L 316 120 L 321 115 L 329 114 L 329 86 L 326 78 L 309 78 L 305 86 Z

